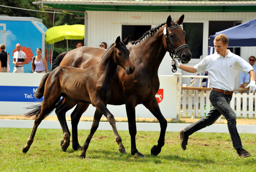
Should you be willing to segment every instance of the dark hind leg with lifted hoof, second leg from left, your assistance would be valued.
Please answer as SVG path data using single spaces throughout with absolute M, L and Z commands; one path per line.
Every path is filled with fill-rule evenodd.
M 62 98 L 58 104 L 56 104 L 55 113 L 58 117 L 60 122 L 60 126 L 63 131 L 63 138 L 64 140 L 61 141 L 60 146 L 64 152 L 66 152 L 69 144 L 70 144 L 70 132 L 68 130 L 68 124 L 66 121 L 66 112 L 73 108 L 77 102 L 74 102 L 68 97 Z

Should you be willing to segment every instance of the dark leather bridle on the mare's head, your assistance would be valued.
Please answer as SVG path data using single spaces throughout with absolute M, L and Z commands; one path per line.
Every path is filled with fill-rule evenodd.
M 180 56 L 177 56 L 176 53 L 180 51 L 180 55 L 181 53 L 183 52 L 183 50 L 185 48 L 188 48 L 188 45 L 187 44 L 183 44 L 182 46 L 179 46 L 178 48 L 174 48 L 173 45 L 172 45 L 172 42 L 170 41 L 170 39 L 168 38 L 167 36 L 167 31 L 170 30 L 170 29 L 173 29 L 173 28 L 182 28 L 180 25 L 176 25 L 176 26 L 170 26 L 169 28 L 166 29 L 166 33 L 165 33 L 165 40 L 166 40 L 166 45 L 169 46 L 171 52 L 169 52 L 170 56 L 173 58 L 180 58 Z M 175 64 L 172 66 L 172 72 L 176 72 L 177 71 L 177 68 L 175 66 Z

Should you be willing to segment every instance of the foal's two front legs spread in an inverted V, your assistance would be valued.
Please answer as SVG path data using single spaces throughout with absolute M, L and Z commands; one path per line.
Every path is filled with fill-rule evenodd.
M 90 130 L 90 134 L 88 135 L 86 141 L 83 144 L 83 148 L 82 148 L 82 152 L 81 152 L 80 157 L 85 158 L 86 150 L 88 149 L 88 146 L 90 144 L 90 141 L 92 139 L 93 134 L 96 132 L 96 129 L 98 128 L 98 125 L 99 125 L 99 122 L 100 122 L 100 118 L 102 117 L 102 114 L 104 114 L 104 116 L 107 117 L 108 122 L 111 124 L 111 126 L 113 128 L 115 138 L 116 138 L 116 142 L 119 145 L 119 151 L 121 153 L 126 153 L 125 148 L 122 144 L 122 139 L 119 136 L 118 131 L 116 129 L 116 120 L 114 119 L 114 116 L 109 112 L 106 105 L 103 104 L 103 103 L 99 103 L 99 104 L 95 105 L 95 107 L 97 108 L 97 110 L 95 111 L 95 114 L 94 114 L 94 121 L 92 123 L 92 128 Z

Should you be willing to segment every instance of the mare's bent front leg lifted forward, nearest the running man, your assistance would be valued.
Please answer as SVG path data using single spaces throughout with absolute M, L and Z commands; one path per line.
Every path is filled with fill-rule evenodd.
M 151 149 L 152 155 L 158 155 L 161 152 L 162 147 L 164 146 L 164 137 L 167 128 L 167 120 L 162 115 L 156 97 L 144 102 L 143 105 L 150 110 L 150 112 L 156 117 L 160 123 L 160 136 L 158 139 L 158 145 L 154 145 Z

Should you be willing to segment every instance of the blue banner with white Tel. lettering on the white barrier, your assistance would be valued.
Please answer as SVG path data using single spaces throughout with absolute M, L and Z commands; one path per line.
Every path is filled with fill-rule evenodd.
M 34 97 L 36 86 L 0 86 L 1 102 L 38 102 L 43 98 Z

